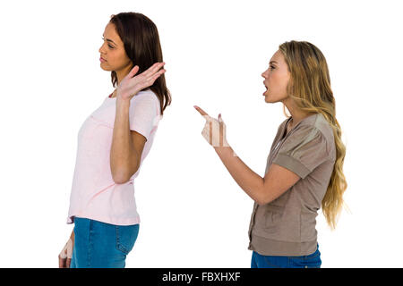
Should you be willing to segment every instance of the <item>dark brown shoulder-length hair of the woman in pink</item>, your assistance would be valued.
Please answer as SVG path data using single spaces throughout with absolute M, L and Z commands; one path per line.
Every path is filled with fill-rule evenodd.
M 115 25 L 116 33 L 124 43 L 126 55 L 134 65 L 139 66 L 137 74 L 146 71 L 153 63 L 163 62 L 159 31 L 148 17 L 141 13 L 124 12 L 113 14 L 109 22 Z M 111 72 L 111 78 L 112 85 L 116 88 L 116 71 Z M 161 74 L 150 89 L 159 97 L 160 113 L 164 114 L 165 108 L 172 101 L 165 75 Z

